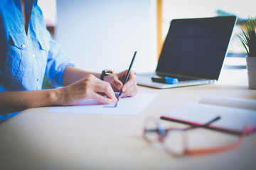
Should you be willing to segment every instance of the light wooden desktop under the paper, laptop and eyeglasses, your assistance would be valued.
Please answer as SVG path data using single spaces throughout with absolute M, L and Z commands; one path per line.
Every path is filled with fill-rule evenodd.
M 139 93 L 158 96 L 137 116 L 46 113 L 49 107 L 44 107 L 28 109 L 1 123 L 0 169 L 256 168 L 256 135 L 246 137 L 242 145 L 228 152 L 181 158 L 171 157 L 142 138 L 147 116 L 159 118 L 183 103 L 198 102 L 209 95 L 256 99 L 256 90 L 247 88 L 246 70 L 224 69 L 215 84 L 164 90 L 139 86 Z M 238 138 L 206 129 L 191 133 L 207 138 L 208 145 L 223 145 Z M 199 140 L 191 145 L 204 143 Z

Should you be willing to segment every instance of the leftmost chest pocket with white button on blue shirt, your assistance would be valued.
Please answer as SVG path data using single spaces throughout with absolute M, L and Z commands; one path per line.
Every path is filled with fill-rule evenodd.
M 31 47 L 24 35 L 9 34 L 8 53 L 4 66 L 4 74 L 24 77 L 32 74 Z

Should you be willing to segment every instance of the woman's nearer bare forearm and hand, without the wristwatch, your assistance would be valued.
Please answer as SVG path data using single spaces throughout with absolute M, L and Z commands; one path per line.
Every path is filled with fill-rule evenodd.
M 70 76 L 70 83 L 80 78 L 79 73 Z M 87 73 L 79 81 L 60 89 L 0 92 L 0 114 L 41 106 L 70 106 L 88 98 L 102 103 L 117 101 L 109 83 Z

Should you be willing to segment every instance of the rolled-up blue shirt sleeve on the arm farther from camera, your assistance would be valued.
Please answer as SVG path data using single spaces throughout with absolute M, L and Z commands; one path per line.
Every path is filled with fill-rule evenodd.
M 75 67 L 75 64 L 65 53 L 63 47 L 51 38 L 46 65 L 46 77 L 50 80 L 50 84 L 53 86 L 63 86 L 63 73 L 67 66 Z

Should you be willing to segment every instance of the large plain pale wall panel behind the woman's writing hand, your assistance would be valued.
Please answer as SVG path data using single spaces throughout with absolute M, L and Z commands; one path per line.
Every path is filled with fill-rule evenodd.
M 57 0 L 55 39 L 76 66 L 92 72 L 156 69 L 155 0 Z

